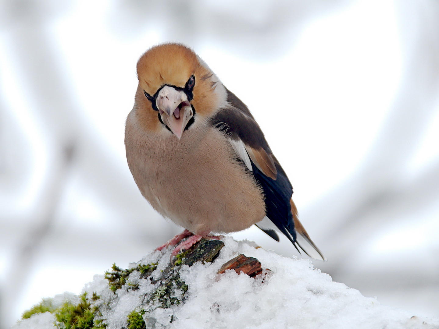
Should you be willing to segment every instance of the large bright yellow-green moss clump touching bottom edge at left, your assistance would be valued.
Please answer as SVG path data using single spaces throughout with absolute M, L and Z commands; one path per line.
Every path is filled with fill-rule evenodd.
M 94 322 L 96 315 L 102 315 L 99 308 L 96 306 L 91 307 L 87 293 L 83 293 L 80 297 L 81 301 L 77 305 L 66 301 L 55 311 L 54 317 L 57 327 L 65 329 L 105 329 L 107 325 L 103 323 L 103 320 Z M 94 293 L 92 298 L 98 299 L 98 297 Z

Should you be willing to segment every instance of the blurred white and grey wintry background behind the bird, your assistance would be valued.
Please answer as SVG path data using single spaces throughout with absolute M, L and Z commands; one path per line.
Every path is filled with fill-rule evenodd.
M 254 114 L 328 258 L 314 265 L 439 316 L 437 1 L 1 0 L 0 328 L 181 231 L 141 197 L 123 145 L 137 59 L 166 41 Z

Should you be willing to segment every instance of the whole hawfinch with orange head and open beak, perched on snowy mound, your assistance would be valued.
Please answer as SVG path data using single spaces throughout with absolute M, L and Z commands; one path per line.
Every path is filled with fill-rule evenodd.
M 126 158 L 151 206 L 185 230 L 173 255 L 211 232 L 256 225 L 326 260 L 299 222 L 290 181 L 247 106 L 186 46 L 154 46 L 137 63 Z M 297 234 L 299 233 L 299 234 Z M 172 257 L 172 256 L 171 256 Z

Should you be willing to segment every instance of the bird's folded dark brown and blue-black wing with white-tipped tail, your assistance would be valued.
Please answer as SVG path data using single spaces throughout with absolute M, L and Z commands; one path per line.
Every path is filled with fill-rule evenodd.
M 249 169 L 263 188 L 266 216 L 270 221 L 291 240 L 297 250 L 299 250 L 300 247 L 309 256 L 325 260 L 326 258 L 321 254 L 311 239 L 309 239 L 308 234 L 297 218 L 297 209 L 291 200 L 293 193 L 291 182 L 271 152 L 261 128 L 248 110 L 248 107 L 236 97 L 234 93 L 228 89 L 226 90 L 228 104 L 212 118 L 212 125 L 223 130 L 230 136 L 230 139 L 233 140 L 232 146 L 234 146 L 235 150 L 238 148 L 236 143 L 242 143 L 244 145 L 245 151 L 251 160 L 251 168 L 249 167 Z M 237 151 L 237 153 L 245 153 L 245 151 Z M 247 154 L 238 155 L 248 166 L 248 162 L 246 161 Z M 292 205 L 294 205 L 293 208 Z M 304 249 L 297 243 L 295 223 L 299 226 L 299 233 L 309 241 L 311 247 L 306 244 Z M 272 229 L 265 229 L 262 226 L 259 228 L 277 240 L 277 235 L 273 234 Z M 304 243 L 302 243 L 302 245 L 303 244 Z M 317 251 L 317 253 L 315 251 Z

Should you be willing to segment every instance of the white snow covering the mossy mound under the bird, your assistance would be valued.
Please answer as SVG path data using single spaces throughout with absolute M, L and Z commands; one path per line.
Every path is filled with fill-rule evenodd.
M 151 296 L 156 296 L 158 286 L 164 283 L 154 282 L 168 267 L 170 250 L 152 252 L 138 263 L 130 264 L 130 268 L 156 264 L 148 278 L 134 270 L 113 293 L 108 279 L 95 275 L 83 292 L 89 297 L 94 292 L 100 296 L 97 300 L 90 298 L 90 302 L 99 308 L 100 315 L 96 318 L 104 319 L 107 329 L 137 328 L 127 322 L 133 311 L 143 317 L 146 328 L 439 329 L 438 318 L 421 318 L 381 305 L 358 290 L 333 282 L 329 275 L 314 269 L 309 260 L 282 257 L 255 248 L 254 243 L 246 240 L 237 242 L 226 237 L 222 241 L 225 246 L 213 263 L 181 265 L 179 276 L 187 285 L 186 291 L 176 287 L 175 303 L 168 304 L 169 307 L 157 307 L 158 299 L 154 301 Z M 239 254 L 257 258 L 271 272 L 255 278 L 244 273 L 238 275 L 234 270 L 217 274 L 225 262 Z M 156 306 L 152 307 L 154 303 Z M 53 327 L 54 315 L 46 312 L 32 315 L 12 328 Z M 64 325 L 58 323 L 58 327 Z

